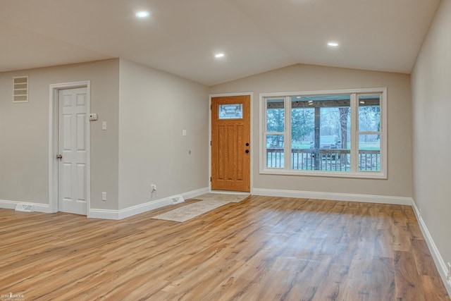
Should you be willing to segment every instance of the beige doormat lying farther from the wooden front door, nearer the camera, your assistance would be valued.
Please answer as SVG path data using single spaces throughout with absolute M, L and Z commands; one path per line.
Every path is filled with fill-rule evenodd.
M 224 206 L 228 203 L 230 202 L 206 199 L 201 202 L 189 204 L 183 207 L 179 207 L 177 209 L 173 209 L 166 213 L 153 216 L 152 219 L 163 219 L 165 221 L 178 221 L 182 223 L 183 221 L 194 219 L 194 217 L 196 216 L 204 214 L 218 207 Z

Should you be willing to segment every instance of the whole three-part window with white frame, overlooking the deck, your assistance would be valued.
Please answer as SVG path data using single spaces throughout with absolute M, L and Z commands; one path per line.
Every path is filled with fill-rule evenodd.
M 386 178 L 386 89 L 261 94 L 261 173 Z

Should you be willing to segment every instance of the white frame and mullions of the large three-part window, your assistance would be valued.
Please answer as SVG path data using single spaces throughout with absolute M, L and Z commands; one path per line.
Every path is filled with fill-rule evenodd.
M 317 96 L 317 95 L 334 95 L 334 94 L 351 94 L 351 171 L 299 171 L 290 168 L 291 158 L 291 97 L 293 96 Z M 362 94 L 381 94 L 381 128 L 379 132 L 371 132 L 369 134 L 378 134 L 381 139 L 381 171 L 359 171 L 358 170 L 358 132 L 359 116 L 358 116 L 358 95 Z M 285 98 L 285 128 L 284 135 L 284 156 L 283 168 L 267 168 L 266 167 L 266 99 Z M 347 89 L 347 90 L 323 90 L 323 91 L 302 91 L 302 92 L 277 92 L 277 93 L 260 93 L 259 94 L 259 114 L 260 114 L 260 174 L 268 175 L 295 175 L 295 176 L 321 176 L 321 177 L 337 177 L 337 178 L 376 178 L 387 179 L 387 88 L 365 88 L 365 89 Z M 366 132 L 365 132 L 366 133 Z

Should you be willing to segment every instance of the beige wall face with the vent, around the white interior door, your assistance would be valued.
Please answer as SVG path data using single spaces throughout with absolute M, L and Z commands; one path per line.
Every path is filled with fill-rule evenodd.
M 0 199 L 49 204 L 49 85 L 91 81 L 91 207 L 118 208 L 118 59 L 0 73 Z M 30 102 L 12 103 L 12 78 L 29 75 Z M 101 192 L 108 192 L 108 202 Z

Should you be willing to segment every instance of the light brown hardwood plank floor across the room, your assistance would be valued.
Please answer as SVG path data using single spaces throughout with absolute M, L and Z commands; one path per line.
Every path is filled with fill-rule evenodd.
M 411 207 L 252 196 L 185 223 L 151 219 L 173 208 L 122 221 L 0 209 L 0 295 L 450 300 Z

